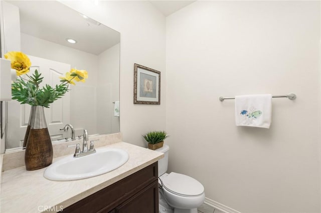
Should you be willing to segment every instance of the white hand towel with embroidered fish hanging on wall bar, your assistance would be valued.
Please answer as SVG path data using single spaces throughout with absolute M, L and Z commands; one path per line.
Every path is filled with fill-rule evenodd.
M 272 117 L 272 95 L 235 96 L 235 123 L 241 126 L 269 128 Z

